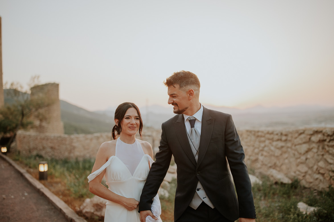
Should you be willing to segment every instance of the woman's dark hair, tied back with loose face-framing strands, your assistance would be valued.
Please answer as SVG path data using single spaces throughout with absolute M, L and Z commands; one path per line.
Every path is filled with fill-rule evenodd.
M 113 135 L 113 139 L 116 139 L 116 135 L 115 135 L 115 131 L 117 132 L 117 135 L 120 135 L 122 132 L 122 126 L 121 126 L 121 122 L 123 121 L 123 117 L 125 116 L 126 111 L 128 111 L 129 108 L 135 108 L 138 112 L 139 115 L 139 135 L 140 137 L 142 137 L 142 130 L 143 130 L 143 120 L 142 120 L 142 116 L 140 115 L 140 111 L 138 109 L 138 107 L 136 106 L 136 104 L 134 103 L 122 103 L 121 105 L 119 105 L 115 111 L 115 117 L 114 119 L 118 119 L 118 125 L 114 125 L 113 130 L 112 130 L 112 135 Z

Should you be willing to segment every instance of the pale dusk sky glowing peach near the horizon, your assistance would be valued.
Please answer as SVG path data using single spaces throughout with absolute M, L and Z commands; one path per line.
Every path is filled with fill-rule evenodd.
M 167 104 L 186 70 L 200 102 L 334 106 L 334 1 L 0 0 L 3 82 L 59 83 L 89 111 Z

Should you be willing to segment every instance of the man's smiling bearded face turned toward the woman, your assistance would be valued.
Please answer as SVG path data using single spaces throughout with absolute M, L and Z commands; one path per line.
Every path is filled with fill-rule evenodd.
M 174 107 L 173 112 L 175 114 L 182 114 L 189 108 L 189 97 L 186 92 L 180 90 L 179 85 L 169 86 L 167 93 L 169 96 L 168 104 Z

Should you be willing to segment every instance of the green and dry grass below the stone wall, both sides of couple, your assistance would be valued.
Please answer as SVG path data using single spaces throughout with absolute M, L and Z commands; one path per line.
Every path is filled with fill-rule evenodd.
M 9 157 L 38 179 L 38 162 L 45 161 L 42 156 L 22 157 L 12 153 Z M 89 159 L 46 161 L 49 166 L 48 180 L 40 182 L 77 212 L 86 198 L 94 196 L 88 190 L 87 179 L 94 162 Z M 257 222 L 334 222 L 334 187 L 330 186 L 327 191 L 315 191 L 301 186 L 297 179 L 291 184 L 275 184 L 266 176 L 262 176 L 261 180 L 261 185 L 256 184 L 252 188 Z M 164 222 L 173 221 L 176 179 L 172 180 L 168 191 L 168 197 L 160 197 L 161 219 Z M 298 202 L 318 207 L 318 211 L 305 215 L 298 210 Z M 86 219 L 89 222 L 99 221 Z

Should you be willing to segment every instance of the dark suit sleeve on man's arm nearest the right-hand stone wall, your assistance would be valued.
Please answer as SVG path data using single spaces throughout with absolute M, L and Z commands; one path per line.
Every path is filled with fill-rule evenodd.
M 245 154 L 231 115 L 227 118 L 224 136 L 226 157 L 238 195 L 239 217 L 256 218 L 252 184 L 244 161 Z

